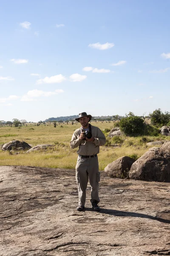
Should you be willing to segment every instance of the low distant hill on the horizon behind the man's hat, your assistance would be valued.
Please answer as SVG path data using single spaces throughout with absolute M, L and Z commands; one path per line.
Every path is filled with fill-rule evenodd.
M 78 115 L 75 116 L 59 116 L 59 117 L 50 117 L 48 119 L 45 119 L 45 121 L 43 122 L 53 122 L 53 121 L 63 121 L 63 122 L 69 122 L 72 120 L 75 120 L 75 118 L 77 118 Z M 119 120 L 122 119 L 124 116 L 93 116 L 92 120 L 101 120 L 101 121 L 114 121 L 114 120 Z

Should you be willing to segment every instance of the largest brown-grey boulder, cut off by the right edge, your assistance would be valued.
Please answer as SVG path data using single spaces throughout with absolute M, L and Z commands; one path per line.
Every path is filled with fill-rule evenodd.
M 170 182 L 170 154 L 160 148 L 150 148 L 130 168 L 129 178 Z

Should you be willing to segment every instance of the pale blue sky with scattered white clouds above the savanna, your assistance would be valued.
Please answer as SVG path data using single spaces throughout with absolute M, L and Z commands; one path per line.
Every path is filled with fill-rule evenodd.
M 169 0 L 0 4 L 0 120 L 170 111 Z

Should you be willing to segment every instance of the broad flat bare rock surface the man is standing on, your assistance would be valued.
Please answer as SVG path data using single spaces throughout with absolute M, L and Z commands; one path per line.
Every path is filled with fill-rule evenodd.
M 99 195 L 78 212 L 75 170 L 0 166 L 0 255 L 170 255 L 170 183 L 101 172 Z

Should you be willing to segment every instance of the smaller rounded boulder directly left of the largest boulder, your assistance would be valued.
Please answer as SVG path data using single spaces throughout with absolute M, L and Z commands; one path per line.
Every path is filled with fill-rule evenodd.
M 111 178 L 128 178 L 130 167 L 135 161 L 131 157 L 119 157 L 105 167 L 105 172 Z

